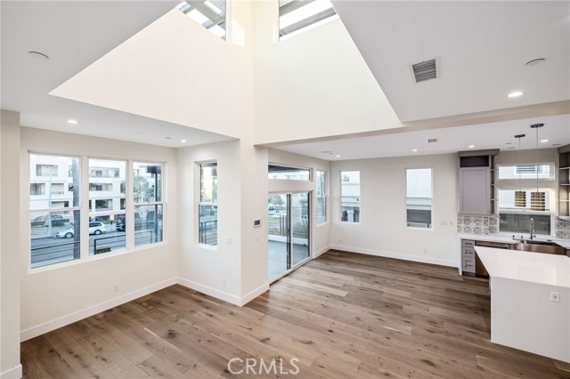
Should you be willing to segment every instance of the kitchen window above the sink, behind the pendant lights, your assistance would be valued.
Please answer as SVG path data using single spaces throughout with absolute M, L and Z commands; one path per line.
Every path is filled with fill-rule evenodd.
M 554 165 L 497 165 L 495 198 L 499 212 L 499 230 L 509 233 L 530 231 L 533 219 L 537 234 L 550 235 L 552 202 L 554 199 Z M 531 192 L 536 191 L 538 173 L 539 190 L 545 193 L 545 211 L 531 210 Z M 523 190 L 526 206 L 515 206 L 515 191 Z

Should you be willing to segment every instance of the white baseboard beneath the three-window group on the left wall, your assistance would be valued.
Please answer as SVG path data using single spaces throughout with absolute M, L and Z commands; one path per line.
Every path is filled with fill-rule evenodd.
M 85 308 L 85 310 L 79 310 L 75 313 L 63 316 L 60 319 L 54 319 L 52 321 L 45 322 L 44 324 L 40 324 L 37 327 L 30 327 L 20 332 L 20 341 L 23 342 L 29 340 L 30 338 L 37 337 L 38 335 L 44 335 L 45 333 L 51 332 L 58 327 L 65 327 L 66 325 L 79 321 L 80 319 L 91 317 L 94 314 L 102 312 L 103 310 L 109 310 L 120 304 L 124 304 L 125 302 L 130 302 L 134 299 L 138 299 L 139 297 L 159 291 L 160 289 L 166 288 L 167 286 L 173 286 L 176 283 L 178 283 L 177 278 L 170 278 L 152 286 L 146 286 L 129 294 L 124 294 L 122 296 L 116 297 L 107 302 L 101 302 L 92 307 Z M 4 376 L 2 379 L 4 379 Z

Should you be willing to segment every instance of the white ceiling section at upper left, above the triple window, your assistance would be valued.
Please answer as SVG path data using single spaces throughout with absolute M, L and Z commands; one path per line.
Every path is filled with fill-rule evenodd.
M 47 94 L 179 3 L 2 1 L 2 109 L 19 111 L 24 126 L 161 146 L 231 139 Z M 80 124 L 69 125 L 69 118 Z

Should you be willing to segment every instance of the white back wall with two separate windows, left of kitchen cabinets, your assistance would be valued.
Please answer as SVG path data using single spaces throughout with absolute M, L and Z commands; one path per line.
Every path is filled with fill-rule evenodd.
M 406 168 L 433 169 L 433 230 L 406 226 Z M 457 154 L 332 162 L 332 248 L 457 267 Z M 360 171 L 360 223 L 340 222 L 340 171 Z M 443 224 L 444 223 L 444 224 Z

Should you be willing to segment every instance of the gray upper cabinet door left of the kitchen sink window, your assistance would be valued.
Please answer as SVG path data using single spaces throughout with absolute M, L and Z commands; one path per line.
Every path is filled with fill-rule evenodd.
M 460 168 L 460 213 L 492 213 L 489 167 Z

